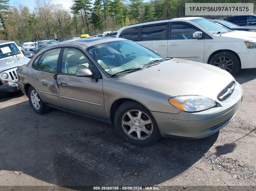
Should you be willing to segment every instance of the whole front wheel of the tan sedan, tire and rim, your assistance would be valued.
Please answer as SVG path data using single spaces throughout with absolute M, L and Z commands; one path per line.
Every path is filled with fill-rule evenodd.
M 118 135 L 132 145 L 150 146 L 161 136 L 150 111 L 135 101 L 126 101 L 118 107 L 114 123 Z

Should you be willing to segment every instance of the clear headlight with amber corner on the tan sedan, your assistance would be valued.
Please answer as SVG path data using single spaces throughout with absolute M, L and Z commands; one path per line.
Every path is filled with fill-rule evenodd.
M 172 106 L 186 112 L 196 112 L 216 106 L 216 102 L 203 96 L 177 96 L 169 99 Z

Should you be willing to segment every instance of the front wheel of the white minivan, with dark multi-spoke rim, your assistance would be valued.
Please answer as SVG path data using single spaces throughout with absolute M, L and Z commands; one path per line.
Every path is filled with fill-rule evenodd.
M 240 68 L 239 59 L 230 52 L 221 52 L 212 57 L 211 65 L 217 66 L 234 75 Z

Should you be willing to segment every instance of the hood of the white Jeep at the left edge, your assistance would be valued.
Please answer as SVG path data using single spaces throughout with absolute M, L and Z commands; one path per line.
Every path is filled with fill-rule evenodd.
M 18 58 L 14 57 L 11 59 L 2 60 L 0 62 L 0 72 L 8 70 L 10 68 L 18 67 L 23 64 L 26 64 L 29 61 L 30 61 L 30 59 L 25 56 L 18 57 Z

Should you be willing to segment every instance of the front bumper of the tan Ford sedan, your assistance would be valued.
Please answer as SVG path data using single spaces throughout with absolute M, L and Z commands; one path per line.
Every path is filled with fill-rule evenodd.
M 209 110 L 178 114 L 152 112 L 162 137 L 204 138 L 226 126 L 236 114 L 243 90 L 237 82 L 233 94 Z

